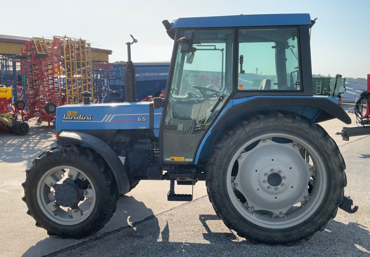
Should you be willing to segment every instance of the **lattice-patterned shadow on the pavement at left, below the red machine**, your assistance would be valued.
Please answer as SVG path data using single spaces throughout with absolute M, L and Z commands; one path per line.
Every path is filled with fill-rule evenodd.
M 0 161 L 27 161 L 29 167 L 34 158 L 55 145 L 55 130 L 47 126 L 30 127 L 30 132 L 24 136 L 0 133 Z

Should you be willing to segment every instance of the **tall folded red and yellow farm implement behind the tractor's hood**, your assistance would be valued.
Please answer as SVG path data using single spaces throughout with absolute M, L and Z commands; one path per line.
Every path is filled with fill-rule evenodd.
M 55 109 L 82 102 L 83 91 L 92 92 L 90 43 L 69 37 L 33 37 L 16 56 L 26 78 L 24 100 L 14 103 L 22 120 L 55 119 Z

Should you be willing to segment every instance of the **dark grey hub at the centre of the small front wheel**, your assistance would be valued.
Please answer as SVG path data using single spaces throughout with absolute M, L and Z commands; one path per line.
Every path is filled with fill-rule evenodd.
M 84 190 L 71 178 L 65 179 L 62 184 L 55 184 L 54 191 L 55 202 L 63 207 L 77 209 L 78 202 L 84 198 Z

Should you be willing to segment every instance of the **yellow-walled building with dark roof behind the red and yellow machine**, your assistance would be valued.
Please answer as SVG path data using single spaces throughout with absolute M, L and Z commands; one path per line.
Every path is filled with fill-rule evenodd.
M 0 34 L 0 54 L 20 54 L 21 47 L 24 49 L 24 41 L 29 37 L 9 36 Z M 91 47 L 92 61 L 109 62 L 112 50 Z

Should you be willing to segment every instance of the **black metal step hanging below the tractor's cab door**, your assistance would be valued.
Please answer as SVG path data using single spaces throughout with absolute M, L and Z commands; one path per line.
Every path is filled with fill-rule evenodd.
M 168 178 L 170 179 L 170 184 L 169 184 L 169 191 L 167 194 L 167 200 L 168 201 L 191 201 L 193 200 L 193 193 L 194 193 L 194 182 L 195 180 L 195 169 L 189 169 L 189 170 L 175 170 L 171 169 L 168 171 Z M 191 180 L 187 181 L 178 181 L 178 185 L 180 184 L 191 184 L 191 194 L 176 194 L 175 193 L 175 181 L 177 178 L 191 178 Z M 182 183 L 181 183 L 182 182 Z M 184 182 L 189 182 L 189 183 L 184 183 Z

